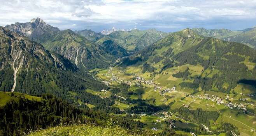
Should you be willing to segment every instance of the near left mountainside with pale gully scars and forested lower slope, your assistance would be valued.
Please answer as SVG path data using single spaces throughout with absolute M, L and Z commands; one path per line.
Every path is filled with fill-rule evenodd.
M 0 27 L 0 45 L 0 90 L 63 94 L 90 88 L 92 82 L 98 84 L 93 77 L 81 74 L 68 59 L 3 27 Z

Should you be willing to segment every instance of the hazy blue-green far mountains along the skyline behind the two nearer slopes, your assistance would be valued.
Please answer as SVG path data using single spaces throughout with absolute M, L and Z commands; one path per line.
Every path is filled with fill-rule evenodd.
M 140 31 L 114 27 L 110 30 L 103 30 L 101 33 L 88 29 L 60 31 L 60 29 L 46 24 L 40 18 L 26 23 L 16 22 L 5 26 L 5 28 L 41 43 L 46 49 L 63 55 L 83 69 L 106 67 L 111 61 L 128 55 L 128 52 L 143 50 L 168 35 L 168 33 L 156 29 Z M 231 31 L 229 29 L 193 28 L 191 31 L 195 31 L 203 37 L 236 41 L 256 48 L 255 29 Z M 98 63 L 101 65 L 97 65 Z

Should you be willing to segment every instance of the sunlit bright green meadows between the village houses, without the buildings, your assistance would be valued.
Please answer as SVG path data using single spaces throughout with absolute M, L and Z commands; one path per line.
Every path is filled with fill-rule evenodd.
M 162 51 L 159 50 L 157 52 L 161 53 Z M 150 58 L 149 60 L 152 60 L 152 58 Z M 152 65 L 154 65 L 154 67 L 159 68 L 159 65 L 161 65 L 161 62 L 158 62 L 157 64 L 152 64 Z M 178 72 L 185 71 L 187 67 L 189 68 L 189 72 L 191 73 L 188 79 L 184 80 L 182 78 L 177 78 L 172 76 L 173 74 L 176 74 Z M 171 109 L 180 108 L 180 107 L 183 107 L 184 105 L 188 105 L 191 110 L 202 108 L 205 111 L 221 112 L 221 116 L 219 117 L 219 119 L 217 119 L 216 122 L 210 121 L 211 122 L 210 127 L 212 127 L 212 129 L 219 126 L 219 124 L 221 124 L 222 122 L 230 122 L 231 124 L 237 126 L 239 131 L 241 132 L 241 135 L 244 135 L 244 136 L 252 135 L 253 133 L 251 129 L 256 129 L 256 123 L 255 123 L 256 117 L 254 115 L 252 114 L 246 115 L 242 113 L 242 111 L 239 112 L 240 114 L 236 115 L 238 113 L 237 109 L 231 110 L 228 107 L 224 107 L 224 105 L 217 105 L 215 102 L 212 102 L 211 100 L 205 100 L 205 99 L 196 98 L 196 97 L 192 98 L 190 96 L 186 97 L 185 96 L 186 94 L 193 93 L 194 90 L 191 88 L 184 88 L 179 85 L 182 82 L 193 83 L 193 78 L 200 75 L 202 77 L 212 77 L 215 74 L 219 74 L 220 72 L 219 70 L 212 68 L 212 69 L 206 69 L 205 71 L 203 71 L 203 67 L 201 65 L 181 65 L 178 67 L 165 69 L 161 73 L 156 73 L 155 75 L 152 75 L 152 73 L 149 73 L 149 72 L 145 72 L 145 73 L 141 72 L 142 69 L 143 69 L 142 65 L 131 65 L 129 67 L 126 67 L 126 69 L 123 69 L 121 67 L 114 67 L 110 72 L 109 72 L 109 69 L 99 71 L 97 76 L 102 80 L 109 81 L 110 79 L 109 77 L 111 77 L 113 74 L 114 76 L 116 76 L 117 78 L 123 81 L 133 82 L 134 81 L 133 77 L 135 77 L 135 75 L 138 75 L 139 77 L 144 77 L 144 79 L 146 80 L 153 79 L 154 83 L 156 83 L 157 86 L 161 86 L 163 88 L 172 88 L 173 86 L 176 86 L 176 91 L 173 91 L 171 93 L 165 93 L 164 96 L 160 95 L 159 89 L 154 90 L 154 86 L 144 84 L 144 83 L 140 83 L 141 86 L 131 85 L 131 87 L 128 88 L 128 91 L 134 93 L 134 95 L 130 95 L 131 100 L 142 99 L 142 100 L 146 100 L 147 103 L 150 103 L 153 105 L 167 105 L 168 103 L 175 101 L 175 103 L 171 105 L 170 107 Z M 116 85 L 116 84 L 118 84 L 116 81 L 112 82 L 112 85 Z M 223 88 L 228 88 L 228 87 L 229 87 L 228 83 L 223 83 Z M 243 94 L 253 93 L 254 89 L 255 89 L 254 87 L 249 85 L 238 84 L 237 87 L 235 87 L 234 89 L 234 91 L 237 94 L 232 94 L 232 93 L 226 94 L 226 93 L 216 92 L 216 90 L 213 88 L 214 91 L 206 91 L 206 92 L 199 91 L 193 96 L 197 96 L 197 95 L 203 96 L 204 94 L 208 94 L 209 96 L 214 95 L 223 99 L 226 99 L 226 97 L 229 96 L 229 98 L 233 98 L 231 99 L 231 102 L 235 103 L 235 102 L 238 102 L 238 99 L 241 96 L 243 98 L 249 98 L 248 96 L 241 95 L 240 93 L 243 93 Z M 152 100 L 154 100 L 154 103 Z M 251 98 L 251 100 L 254 102 L 255 99 Z M 245 103 L 245 102 L 240 102 L 240 103 Z M 118 107 L 120 109 L 129 108 L 129 105 L 126 105 L 121 102 L 116 102 L 113 106 Z M 247 105 L 247 109 L 252 113 L 256 112 L 254 107 L 252 107 L 251 105 Z M 159 117 L 147 115 L 145 117 L 141 117 L 139 121 L 142 121 L 147 124 L 144 127 L 145 129 L 152 129 L 153 127 L 161 129 L 161 124 L 159 122 L 154 124 L 155 123 L 154 121 L 156 121 L 157 119 L 159 119 Z M 175 116 L 173 116 L 172 119 L 181 120 L 182 122 L 184 121 Z M 176 125 L 179 127 L 190 127 L 190 128 L 198 127 L 198 124 L 195 124 L 192 122 L 187 122 L 188 124 L 185 124 L 182 122 L 177 122 Z M 223 135 L 225 135 L 225 133 L 219 134 L 219 136 L 223 136 Z

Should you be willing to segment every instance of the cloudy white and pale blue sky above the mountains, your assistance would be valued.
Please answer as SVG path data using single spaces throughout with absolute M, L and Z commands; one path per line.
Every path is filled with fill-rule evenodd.
M 184 28 L 240 30 L 256 26 L 256 0 L 0 0 L 0 26 L 40 17 L 72 30 Z

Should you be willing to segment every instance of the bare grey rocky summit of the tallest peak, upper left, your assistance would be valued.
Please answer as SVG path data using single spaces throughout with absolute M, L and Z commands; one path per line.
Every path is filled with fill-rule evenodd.
M 26 36 L 33 41 L 37 41 L 37 39 L 43 34 L 53 34 L 60 31 L 60 29 L 46 24 L 46 22 L 40 18 L 34 18 L 30 22 L 26 23 L 16 22 L 15 24 L 5 26 L 5 28 Z

